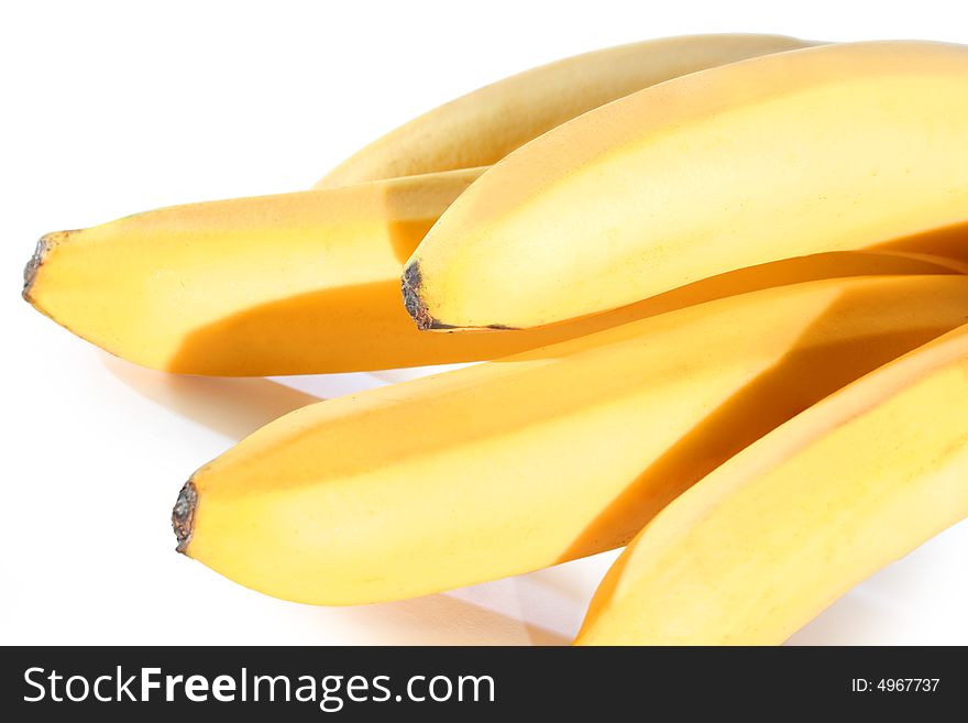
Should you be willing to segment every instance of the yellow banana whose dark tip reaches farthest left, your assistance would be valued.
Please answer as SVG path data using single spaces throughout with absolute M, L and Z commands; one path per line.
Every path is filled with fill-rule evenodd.
M 494 359 L 750 284 L 950 271 L 931 259 L 840 254 L 535 331 L 421 333 L 400 304 L 403 262 L 479 174 L 194 204 L 48 234 L 28 264 L 24 296 L 139 364 L 239 376 Z

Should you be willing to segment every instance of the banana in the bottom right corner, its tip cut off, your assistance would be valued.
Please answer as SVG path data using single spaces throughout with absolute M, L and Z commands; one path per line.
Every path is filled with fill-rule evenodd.
M 773 645 L 968 517 L 968 327 L 835 393 L 663 510 L 579 645 Z

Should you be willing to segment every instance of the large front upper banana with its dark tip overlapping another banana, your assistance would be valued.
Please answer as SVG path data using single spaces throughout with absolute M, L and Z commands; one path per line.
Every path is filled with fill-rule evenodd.
M 824 45 L 647 88 L 513 152 L 426 235 L 404 296 L 420 328 L 528 328 L 964 232 L 966 209 L 968 47 Z

